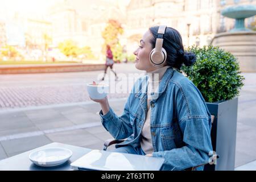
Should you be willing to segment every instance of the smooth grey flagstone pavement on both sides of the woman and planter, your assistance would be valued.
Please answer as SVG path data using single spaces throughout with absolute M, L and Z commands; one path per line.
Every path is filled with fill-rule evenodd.
M 243 73 L 238 99 L 236 139 L 237 169 L 256 170 L 256 73 Z M 122 114 L 126 98 L 112 98 L 110 105 Z M 101 125 L 100 105 L 92 101 L 0 110 L 0 159 L 51 142 L 102 149 L 112 138 Z

